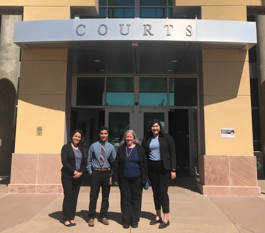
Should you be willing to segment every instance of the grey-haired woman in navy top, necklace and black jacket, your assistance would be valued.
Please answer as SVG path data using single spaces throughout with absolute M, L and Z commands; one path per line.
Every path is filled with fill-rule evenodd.
M 121 192 L 122 227 L 138 227 L 143 183 L 147 182 L 147 158 L 133 130 L 126 131 L 115 158 L 112 180 Z M 118 184 L 119 183 L 119 184 Z

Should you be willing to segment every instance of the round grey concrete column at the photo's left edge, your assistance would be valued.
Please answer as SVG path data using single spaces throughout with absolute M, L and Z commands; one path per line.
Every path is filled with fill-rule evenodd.
M 14 131 L 20 48 L 13 43 L 14 22 L 22 15 L 2 15 L 0 34 L 0 171 L 9 174 Z

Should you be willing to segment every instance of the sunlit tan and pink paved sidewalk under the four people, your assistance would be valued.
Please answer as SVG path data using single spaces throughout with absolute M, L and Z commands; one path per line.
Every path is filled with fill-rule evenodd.
M 264 233 L 265 232 L 265 180 L 258 180 L 262 195 L 204 196 L 197 191 L 193 177 L 177 178 L 169 187 L 170 226 L 159 229 L 149 222 L 155 217 L 152 190 L 143 190 L 142 212 L 138 228 L 123 229 L 120 214 L 118 187 L 111 187 L 110 207 L 105 226 L 95 219 L 95 226 L 88 227 L 90 187 L 81 187 L 78 197 L 75 227 L 62 224 L 62 194 L 6 194 L 8 178 L 0 178 L 0 232 L 168 232 L 168 233 Z M 101 204 L 99 195 L 97 217 Z

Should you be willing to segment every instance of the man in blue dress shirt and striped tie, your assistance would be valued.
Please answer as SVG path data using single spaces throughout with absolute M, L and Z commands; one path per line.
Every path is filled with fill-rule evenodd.
M 112 184 L 112 171 L 107 159 L 110 156 L 115 160 L 116 151 L 112 144 L 107 142 L 108 129 L 105 126 L 99 128 L 99 141 L 93 143 L 88 151 L 86 169 L 90 174 L 90 202 L 88 211 L 88 226 L 94 226 L 96 206 L 100 187 L 102 189 L 102 202 L 99 213 L 99 221 L 109 225 L 106 215 L 109 209 L 110 185 Z

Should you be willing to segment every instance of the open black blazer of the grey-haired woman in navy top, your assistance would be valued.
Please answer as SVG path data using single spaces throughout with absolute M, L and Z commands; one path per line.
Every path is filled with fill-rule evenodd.
M 145 155 L 145 150 L 139 144 L 135 144 L 139 156 L 139 166 L 140 166 L 140 174 L 141 174 L 141 182 L 146 183 L 148 178 L 148 165 L 147 158 Z M 118 148 L 117 155 L 115 158 L 115 164 L 113 169 L 112 181 L 120 182 L 124 173 L 124 161 L 126 156 L 126 146 L 122 145 Z

